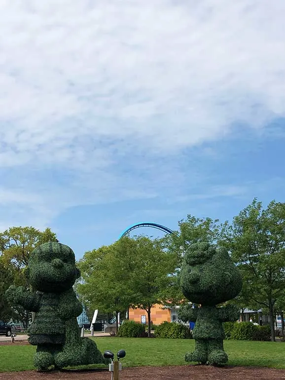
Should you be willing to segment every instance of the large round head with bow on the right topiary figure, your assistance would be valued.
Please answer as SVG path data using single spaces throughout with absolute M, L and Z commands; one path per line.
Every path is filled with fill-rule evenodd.
M 180 285 L 189 301 L 213 306 L 236 297 L 242 289 L 242 277 L 225 249 L 196 243 L 185 253 Z

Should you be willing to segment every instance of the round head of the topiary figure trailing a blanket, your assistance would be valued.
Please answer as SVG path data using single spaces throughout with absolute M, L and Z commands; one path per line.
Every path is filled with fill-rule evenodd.
M 48 293 L 71 289 L 80 277 L 74 252 L 57 242 L 41 244 L 31 253 L 26 274 L 34 290 Z

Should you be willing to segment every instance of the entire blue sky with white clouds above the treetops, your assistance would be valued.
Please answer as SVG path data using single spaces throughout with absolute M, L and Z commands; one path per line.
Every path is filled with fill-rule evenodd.
M 138 222 L 285 201 L 284 19 L 284 0 L 2 0 L 0 230 L 50 227 L 80 258 Z

